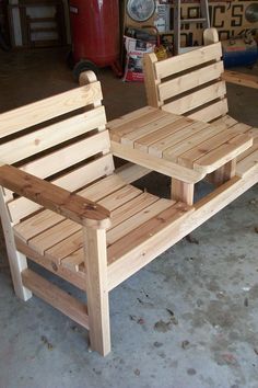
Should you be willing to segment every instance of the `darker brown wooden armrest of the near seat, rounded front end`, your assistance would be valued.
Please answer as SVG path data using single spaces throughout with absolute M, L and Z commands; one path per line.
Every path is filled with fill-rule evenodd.
M 107 228 L 110 213 L 78 194 L 9 164 L 0 167 L 0 185 L 83 226 Z

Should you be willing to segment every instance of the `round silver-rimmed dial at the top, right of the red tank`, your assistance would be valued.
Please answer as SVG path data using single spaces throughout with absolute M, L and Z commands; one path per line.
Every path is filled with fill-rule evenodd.
M 155 11 L 155 0 L 128 0 L 127 13 L 136 22 L 144 22 Z

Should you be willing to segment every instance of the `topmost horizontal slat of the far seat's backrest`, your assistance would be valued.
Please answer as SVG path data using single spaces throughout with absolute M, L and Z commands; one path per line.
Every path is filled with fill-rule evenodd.
M 221 56 L 221 43 L 215 43 L 213 45 L 197 48 L 194 52 L 185 53 L 156 62 L 156 75 L 161 79 L 169 77 L 171 75 L 185 71 L 211 60 L 219 61 Z

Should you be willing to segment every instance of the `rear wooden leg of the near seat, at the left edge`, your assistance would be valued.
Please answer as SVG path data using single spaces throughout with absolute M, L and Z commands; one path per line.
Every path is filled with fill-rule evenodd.
M 2 229 L 4 233 L 4 240 L 7 244 L 8 259 L 10 264 L 10 271 L 12 275 L 13 287 L 16 296 L 22 300 L 27 300 L 32 297 L 30 289 L 23 286 L 22 275 L 23 270 L 27 269 L 27 259 L 24 254 L 19 252 L 15 247 L 11 221 L 9 218 L 7 205 L 4 203 L 2 189 L 0 190 L 0 210 Z

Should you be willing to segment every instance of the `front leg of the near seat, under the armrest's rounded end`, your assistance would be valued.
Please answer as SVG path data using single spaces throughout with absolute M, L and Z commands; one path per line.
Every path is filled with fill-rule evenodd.
M 110 352 L 106 230 L 84 229 L 90 343 L 102 355 Z

